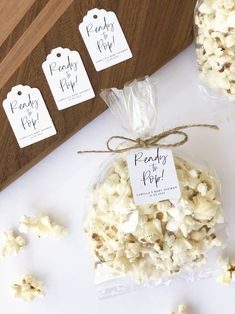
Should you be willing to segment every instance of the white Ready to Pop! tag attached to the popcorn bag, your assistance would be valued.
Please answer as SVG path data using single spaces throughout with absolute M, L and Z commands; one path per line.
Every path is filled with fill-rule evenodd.
M 130 151 L 127 163 L 136 205 L 180 197 L 179 182 L 170 149 Z

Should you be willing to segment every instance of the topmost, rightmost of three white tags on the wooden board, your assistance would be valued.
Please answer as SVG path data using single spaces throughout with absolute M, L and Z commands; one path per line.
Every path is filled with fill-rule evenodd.
M 88 11 L 79 25 L 79 30 L 96 71 L 132 57 L 114 12 L 103 9 Z

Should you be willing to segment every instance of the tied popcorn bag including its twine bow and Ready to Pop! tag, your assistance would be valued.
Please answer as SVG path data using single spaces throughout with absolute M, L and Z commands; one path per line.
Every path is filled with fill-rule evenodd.
M 223 246 L 217 180 L 210 169 L 174 151 L 188 140 L 185 129 L 215 126 L 155 135 L 155 90 L 146 77 L 101 93 L 129 135 L 107 142 L 112 154 L 93 184 L 86 219 L 101 298 L 177 276 L 207 276 L 209 260 L 215 263 Z M 118 139 L 124 141 L 115 147 Z

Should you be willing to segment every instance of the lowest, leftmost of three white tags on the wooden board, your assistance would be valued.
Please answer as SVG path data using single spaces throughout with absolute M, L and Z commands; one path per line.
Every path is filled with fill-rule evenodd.
M 13 87 L 3 101 L 3 108 L 21 148 L 56 134 L 37 88 L 23 85 Z

